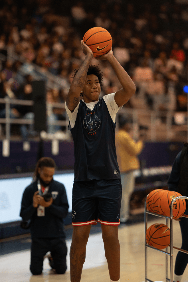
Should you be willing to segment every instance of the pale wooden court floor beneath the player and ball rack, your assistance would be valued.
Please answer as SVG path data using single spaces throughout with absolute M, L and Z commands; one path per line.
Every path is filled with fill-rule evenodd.
M 165 223 L 163 218 L 148 222 Z M 144 267 L 144 223 L 119 226 L 119 241 L 121 247 L 120 281 L 145 281 Z M 68 249 L 71 240 L 67 240 Z M 181 232 L 179 223 L 173 221 L 173 245 L 181 247 Z M 173 252 L 175 262 L 177 251 Z M 42 275 L 31 275 L 29 271 L 30 251 L 15 252 L 0 257 L 1 282 L 56 282 L 70 281 L 70 267 L 67 255 L 68 269 L 64 275 L 52 273 L 48 260 L 44 261 Z M 169 271 L 170 275 L 170 271 Z M 148 248 L 148 275 L 153 281 L 165 281 L 165 254 Z M 169 276 L 170 278 L 170 276 Z M 104 255 L 101 233 L 93 234 L 88 240 L 86 262 L 82 271 L 81 282 L 109 282 L 108 266 Z M 185 269 L 182 282 L 188 282 L 188 266 Z

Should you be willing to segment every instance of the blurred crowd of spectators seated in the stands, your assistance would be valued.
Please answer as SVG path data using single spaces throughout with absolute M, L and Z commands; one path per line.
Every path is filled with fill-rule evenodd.
M 114 56 L 136 85 L 125 107 L 187 111 L 187 5 L 161 0 L 2 0 L 0 25 L 0 98 L 31 100 L 32 80 L 39 79 L 47 81 L 47 105 L 65 102 L 73 70 L 84 59 L 80 40 L 99 26 L 112 35 Z M 108 62 L 93 59 L 92 64 L 103 72 L 101 97 L 121 88 Z M 3 117 L 5 105 L 0 104 Z M 12 105 L 10 117 L 31 119 L 32 107 Z M 47 117 L 63 120 L 65 111 L 47 107 Z M 20 130 L 26 138 L 27 126 Z M 48 127 L 48 133 L 58 130 L 62 127 Z

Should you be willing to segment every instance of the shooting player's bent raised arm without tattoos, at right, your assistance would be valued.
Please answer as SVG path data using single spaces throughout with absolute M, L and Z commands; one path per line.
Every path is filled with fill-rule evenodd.
M 123 106 L 128 102 L 128 100 L 134 95 L 136 91 L 134 82 L 132 81 L 128 73 L 124 70 L 124 68 L 120 65 L 118 60 L 116 60 L 116 58 L 114 57 L 112 48 L 107 54 L 96 59 L 107 60 L 114 69 L 118 80 L 122 85 L 122 88 L 116 92 L 114 99 L 118 107 Z

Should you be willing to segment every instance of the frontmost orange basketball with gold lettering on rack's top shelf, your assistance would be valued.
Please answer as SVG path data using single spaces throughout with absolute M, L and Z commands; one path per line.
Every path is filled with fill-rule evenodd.
M 174 191 L 167 191 L 166 194 L 163 194 L 159 200 L 159 213 L 165 216 L 170 216 L 171 201 L 179 196 L 182 195 Z M 182 216 L 182 214 L 184 214 L 185 212 L 185 209 L 186 209 L 185 199 L 178 199 L 175 202 L 173 202 L 173 208 L 172 208 L 173 219 Z

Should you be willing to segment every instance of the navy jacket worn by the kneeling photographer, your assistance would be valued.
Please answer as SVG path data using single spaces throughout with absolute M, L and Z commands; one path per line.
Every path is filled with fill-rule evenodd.
M 37 216 L 37 208 L 33 207 L 33 195 L 37 190 L 37 181 L 32 182 L 25 188 L 21 202 L 20 216 L 23 220 L 31 219 L 31 237 L 65 238 L 63 218 L 68 213 L 68 201 L 64 185 L 52 180 L 48 192 L 56 191 L 58 195 L 51 206 L 45 208 L 45 216 Z

